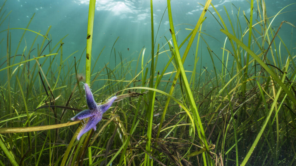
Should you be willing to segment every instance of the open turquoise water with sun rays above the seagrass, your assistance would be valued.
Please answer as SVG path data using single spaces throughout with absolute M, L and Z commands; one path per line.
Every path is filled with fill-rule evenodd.
M 266 1 L 267 15 L 274 16 L 279 12 L 284 6 L 295 2 L 294 0 L 285 1 Z M 63 40 L 63 57 L 66 58 L 67 55 L 78 51 L 74 56 L 80 56 L 84 48 L 86 47 L 86 30 L 87 30 L 87 17 L 88 17 L 88 3 L 86 0 L 66 0 L 66 1 L 22 1 L 22 0 L 10 0 L 6 2 L 4 9 L 6 11 L 12 11 L 9 15 L 9 19 L 1 25 L 1 30 L 7 29 L 8 21 L 10 28 L 25 28 L 30 18 L 35 13 L 35 16 L 28 27 L 28 29 L 38 32 L 40 30 L 41 34 L 45 34 L 49 26 L 51 30 L 49 34 L 51 35 L 53 41 L 52 43 L 57 43 L 61 38 L 67 37 Z M 181 43 L 184 38 L 189 34 L 189 30 L 185 28 L 192 29 L 197 23 L 200 16 L 202 6 L 198 3 L 204 3 L 203 1 L 196 0 L 172 0 L 172 13 L 173 22 L 175 30 L 178 31 L 177 38 L 179 43 Z M 224 7 L 230 14 L 233 22 L 237 22 L 238 9 L 240 10 L 239 19 L 241 20 L 241 29 L 245 30 L 247 27 L 243 11 L 246 15 L 250 13 L 250 4 L 244 0 L 213 0 L 213 5 L 215 5 L 218 12 L 220 12 L 222 18 L 225 20 L 226 24 L 229 24 L 227 15 L 225 13 Z M 254 1 L 254 6 L 257 7 Z M 287 7 L 285 10 L 290 11 L 295 8 L 295 5 Z M 217 14 L 213 11 L 213 8 L 209 8 L 210 12 L 218 19 Z M 153 1 L 153 12 L 154 12 L 154 34 L 155 34 L 155 44 L 160 44 L 160 47 L 166 43 L 166 38 L 170 38 L 169 32 L 169 22 L 168 14 L 166 10 L 166 1 Z M 217 54 L 219 58 L 222 57 L 223 43 L 225 41 L 226 35 L 220 32 L 221 26 L 215 20 L 213 15 L 207 12 L 207 19 L 202 25 L 204 33 L 210 36 L 203 35 L 205 40 L 210 46 L 210 49 Z M 256 18 L 254 18 L 254 22 Z M 276 17 L 274 23 L 272 24 L 274 28 L 279 26 L 280 22 L 286 20 L 288 22 L 295 22 L 295 16 L 290 13 L 284 13 Z M 230 26 L 229 26 L 230 27 Z M 157 33 L 158 30 L 158 33 Z M 288 32 L 287 32 L 288 31 Z M 12 42 L 18 43 L 23 30 L 11 30 L 12 32 Z M 291 27 L 282 26 L 282 30 L 279 32 L 281 38 L 285 40 L 287 38 L 287 43 L 291 39 Z M 157 35 L 156 35 L 157 34 Z M 6 38 L 6 33 L 2 32 L 0 34 L 1 39 Z M 114 52 L 111 53 L 111 48 L 115 40 L 119 37 L 115 43 L 115 50 L 122 53 L 123 58 L 131 60 L 133 58 L 137 59 L 139 52 L 144 47 L 146 48 L 145 59 L 151 57 L 149 53 L 151 52 L 151 18 L 150 18 L 150 1 L 129 1 L 129 0 L 102 0 L 96 1 L 96 11 L 94 18 L 94 35 L 93 35 L 93 51 L 92 56 L 96 56 L 105 46 L 104 51 L 100 57 L 100 61 L 95 67 L 100 70 L 105 63 L 110 62 L 111 65 L 115 65 Z M 259 36 L 258 36 L 259 37 Z M 27 44 L 30 46 L 33 42 L 35 34 L 31 32 L 26 33 L 25 39 Z M 293 37 L 295 38 L 295 37 Z M 42 38 L 38 38 L 42 41 Z M 200 43 L 201 51 L 198 52 L 198 56 L 202 57 L 203 66 L 212 69 L 213 64 L 208 56 L 207 46 L 204 42 Z M 12 45 L 12 50 L 17 44 Z M 21 43 L 21 47 L 25 46 L 25 42 Z M 29 47 L 28 46 L 28 47 Z M 229 45 L 228 45 L 229 46 Z M 227 45 L 226 45 L 227 47 Z M 166 47 L 168 49 L 168 47 Z M 181 48 L 181 53 L 184 51 L 185 46 Z M 163 49 L 162 49 L 163 50 Z M 22 53 L 22 49 L 19 49 L 17 54 Z M 113 50 L 114 51 L 114 50 Z M 155 51 L 156 52 L 156 51 Z M 111 53 L 111 57 L 110 57 Z M 188 54 L 188 58 L 184 64 L 185 69 L 191 70 L 193 66 L 195 50 L 192 50 Z M 165 62 L 168 60 L 168 56 L 165 54 L 161 55 L 161 59 Z M 69 58 L 68 61 L 72 61 L 73 58 Z M 117 56 L 117 61 L 120 61 L 119 56 Z M 214 59 L 216 67 L 221 66 L 221 62 Z M 84 62 L 82 61 L 84 64 Z M 198 63 L 200 65 L 200 63 Z M 84 66 L 80 65 L 81 71 Z M 158 69 L 163 69 L 163 64 L 159 61 L 157 65 Z

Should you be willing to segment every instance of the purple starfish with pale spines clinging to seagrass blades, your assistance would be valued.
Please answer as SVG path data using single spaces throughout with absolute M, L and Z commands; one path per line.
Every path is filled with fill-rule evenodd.
M 96 130 L 96 124 L 102 120 L 103 113 L 106 112 L 108 108 L 110 108 L 114 100 L 117 99 L 117 97 L 114 96 L 108 99 L 105 104 L 97 105 L 96 102 L 94 101 L 94 96 L 91 93 L 91 89 L 89 89 L 89 85 L 86 83 L 84 84 L 84 90 L 85 90 L 87 107 L 89 109 L 83 110 L 77 115 L 75 115 L 73 118 L 71 118 L 72 121 L 79 121 L 84 118 L 89 118 L 86 125 L 80 130 L 79 134 L 77 135 L 78 140 L 84 133 L 89 131 L 91 128 Z

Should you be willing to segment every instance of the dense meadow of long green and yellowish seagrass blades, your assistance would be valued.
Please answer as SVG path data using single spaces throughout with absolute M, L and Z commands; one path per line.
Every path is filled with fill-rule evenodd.
M 26 27 L 3 25 L 10 12 L 0 4 L 0 165 L 295 165 L 296 47 L 295 39 L 279 33 L 286 26 L 290 31 L 283 33 L 293 36 L 296 27 L 274 19 L 295 15 L 286 7 L 296 3 L 271 17 L 265 3 L 248 1 L 246 15 L 236 6 L 217 11 L 207 0 L 194 28 L 178 41 L 168 0 L 170 31 L 157 43 L 151 0 L 151 51 L 142 48 L 136 60 L 117 53 L 115 67 L 100 70 L 94 70 L 99 56 L 91 56 L 95 1 L 89 3 L 86 50 L 66 58 L 66 36 L 54 43 L 51 27 L 45 34 L 30 30 L 34 16 Z M 225 37 L 219 53 L 205 38 L 215 39 L 202 26 L 206 13 Z M 18 43 L 11 42 L 16 30 L 23 31 Z M 32 43 L 23 38 L 28 33 Z M 200 43 L 213 70 L 202 67 Z M 192 71 L 183 65 L 189 51 Z M 160 55 L 169 60 L 156 71 Z

